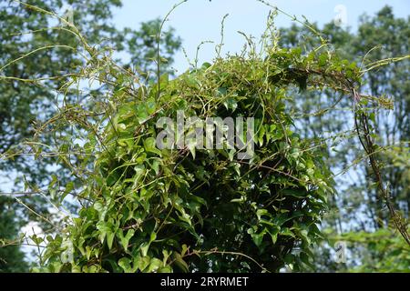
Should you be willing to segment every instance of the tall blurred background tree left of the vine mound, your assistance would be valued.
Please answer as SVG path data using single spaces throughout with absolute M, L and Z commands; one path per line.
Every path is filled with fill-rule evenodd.
M 58 97 L 61 92 L 59 90 L 64 90 L 61 86 L 67 81 L 64 75 L 72 73 L 82 62 L 78 54 L 80 50 L 77 39 L 68 33 L 70 24 L 58 22 L 44 11 L 55 12 L 56 15 L 67 18 L 68 22 L 72 21 L 81 33 L 95 44 L 111 45 L 118 52 L 128 53 L 132 63 L 123 65 L 147 72 L 153 63 L 149 57 L 157 51 L 155 34 L 158 32 L 160 21 L 157 19 L 141 24 L 141 31 L 129 28 L 118 31 L 110 23 L 110 19 L 112 8 L 120 5 L 121 2 L 118 0 L 48 0 L 29 1 L 27 4 L 0 1 L 0 170 L 5 175 L 17 175 L 14 186 L 16 191 L 21 192 L 23 186 L 32 192 L 38 191 L 38 188 L 41 189 L 52 181 L 52 174 L 56 170 L 65 174 L 60 176 L 62 181 L 73 180 L 67 166 L 55 166 L 56 156 L 44 155 L 40 160 L 35 160 L 30 154 L 30 146 L 25 144 L 26 139 L 35 133 L 34 122 L 37 125 L 41 124 L 56 114 L 56 105 L 62 102 Z M 151 35 L 144 35 L 148 30 Z M 164 57 L 169 59 L 171 65 L 171 55 L 179 49 L 180 39 L 174 35 L 172 29 L 165 31 L 164 34 L 167 37 L 161 40 L 160 47 L 166 50 L 167 54 L 164 54 Z M 140 44 L 142 38 L 144 42 Z M 10 63 L 20 57 L 18 63 Z M 53 75 L 62 77 L 50 78 Z M 30 80 L 36 85 L 28 84 L 27 81 Z M 92 90 L 94 102 L 104 98 L 100 91 L 99 88 Z M 79 95 L 67 94 L 65 97 L 77 98 Z M 61 129 L 64 133 L 59 133 L 66 135 L 68 141 L 69 130 L 67 126 Z M 54 133 L 41 137 L 42 139 L 37 142 L 43 144 L 50 144 L 50 141 L 56 138 Z M 13 158 L 5 158 L 5 153 L 14 153 L 11 155 Z M 34 185 L 36 189 L 32 188 Z M 49 193 L 46 193 L 46 196 L 50 197 Z M 27 196 L 22 199 L 37 213 L 47 214 L 49 207 L 44 196 Z M 27 212 L 13 197 L 8 200 L 8 203 L 13 201 L 15 213 L 19 215 L 12 220 L 7 218 L 8 222 L 15 223 L 15 226 L 6 228 L 5 233 L 0 232 L 0 237 L 15 239 L 18 232 L 16 226 L 21 224 L 18 219 L 36 221 L 38 217 L 32 212 Z M 0 216 L 3 215 L 4 219 L 9 216 L 8 213 L 0 213 Z M 46 225 L 44 227 L 46 230 Z M 15 231 L 14 235 L 11 234 L 12 230 Z M 10 246 L 5 251 L 11 254 L 9 248 Z M 22 256 L 15 257 L 17 261 L 19 257 Z M 9 264 L 12 262 L 13 260 L 9 260 Z M 13 266 L 10 266 L 11 268 Z

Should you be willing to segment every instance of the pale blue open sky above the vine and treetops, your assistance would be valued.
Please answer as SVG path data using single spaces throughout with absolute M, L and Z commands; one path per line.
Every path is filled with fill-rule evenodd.
M 114 12 L 114 23 L 121 27 L 138 28 L 140 22 L 156 17 L 164 17 L 177 0 L 123 0 L 123 6 Z M 305 15 L 311 22 L 319 25 L 333 21 L 338 15 L 338 5 L 345 8 L 346 24 L 352 30 L 357 29 L 358 18 L 364 13 L 374 15 L 384 5 L 391 5 L 395 15 L 407 17 L 410 12 L 409 0 L 271 0 L 291 15 L 301 18 Z M 340 6 L 339 6 L 340 7 Z M 340 11 L 340 10 L 339 10 Z M 229 14 L 225 22 L 225 40 L 222 52 L 238 52 L 244 44 L 243 36 L 260 36 L 265 25 L 269 8 L 256 0 L 189 0 L 180 5 L 169 17 L 167 25 L 173 26 L 183 39 L 183 46 L 188 56 L 193 59 L 197 46 L 202 41 L 220 43 L 220 22 L 223 15 Z M 289 26 L 292 21 L 279 15 L 276 25 Z M 210 61 L 214 56 L 214 45 L 203 45 L 200 50 L 200 63 Z M 185 71 L 189 64 L 182 52 L 176 55 L 175 68 L 179 73 Z

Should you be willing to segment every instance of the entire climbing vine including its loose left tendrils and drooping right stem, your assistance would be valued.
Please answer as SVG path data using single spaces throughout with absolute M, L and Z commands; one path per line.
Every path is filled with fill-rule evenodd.
M 331 89 L 352 99 L 355 129 L 375 182 L 410 242 L 405 222 L 389 203 L 372 137 L 367 105 L 385 100 L 360 94 L 363 72 L 325 40 L 311 51 L 280 47 L 274 15 L 259 50 L 247 38 L 240 55 L 218 55 L 212 64 L 194 65 L 175 79 L 160 74 L 166 60 L 158 55 L 155 82 L 117 65 L 109 48 L 88 45 L 68 26 L 67 33 L 82 44 L 85 62 L 62 76 L 68 80 L 58 92 L 63 96 L 58 115 L 36 127 L 36 135 L 54 134 L 56 145 L 38 144 L 35 137 L 8 153 L 19 155 L 29 147 L 42 156 L 54 148 L 56 162 L 74 176 L 65 186 L 53 177 L 44 190 L 58 209 L 67 195 L 75 196 L 79 212 L 65 216 L 66 225 L 46 237 L 35 271 L 278 272 L 283 266 L 295 271 L 311 266 L 334 182 L 323 157 L 326 143 L 298 135 L 287 107 L 297 90 Z M 81 100 L 64 98 L 84 81 L 90 87 L 96 82 L 104 98 L 94 98 L 92 90 Z M 179 112 L 202 120 L 252 117 L 253 155 L 237 158 L 227 142 L 220 148 L 160 149 L 159 119 L 176 120 Z M 66 126 L 73 134 L 59 136 Z M 183 130 L 192 133 L 189 126 Z

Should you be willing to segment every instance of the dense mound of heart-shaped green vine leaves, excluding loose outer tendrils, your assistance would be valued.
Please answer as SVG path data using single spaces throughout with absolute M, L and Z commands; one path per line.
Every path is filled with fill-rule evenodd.
M 134 94 L 134 79 L 110 71 L 122 82 L 113 87 L 113 114 L 84 146 L 103 145 L 79 194 L 89 202 L 66 235 L 49 238 L 49 270 L 237 272 L 311 264 L 333 180 L 323 144 L 292 131 L 285 89 L 337 87 L 346 72 L 355 82 L 357 68 L 326 50 L 266 50 L 264 57 L 217 59 L 175 80 L 163 75 Z M 226 145 L 159 150 L 156 122 L 176 119 L 178 110 L 201 119 L 254 117 L 254 156 L 237 160 Z M 67 251 L 71 262 L 62 260 Z

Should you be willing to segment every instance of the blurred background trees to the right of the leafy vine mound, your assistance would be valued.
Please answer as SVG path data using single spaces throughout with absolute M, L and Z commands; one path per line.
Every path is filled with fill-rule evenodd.
M 345 31 L 334 24 L 324 25 L 321 33 L 326 35 L 343 57 L 351 62 L 361 64 L 364 68 L 368 65 L 381 65 L 373 63 L 377 60 L 389 59 L 405 56 L 408 54 L 409 30 L 408 19 L 395 18 L 392 8 L 385 6 L 373 17 L 364 15 L 361 17 L 357 34 Z M 318 29 L 316 27 L 316 29 Z M 319 30 L 319 29 L 318 29 Z M 302 35 L 302 37 L 301 37 Z M 293 25 L 290 29 L 282 29 L 282 44 L 288 46 L 306 45 L 311 47 L 317 42 L 316 38 L 307 34 L 304 27 Z M 363 61 L 363 62 L 362 62 Z M 372 65 L 370 65 L 372 64 Z M 386 96 L 394 100 L 395 110 L 380 110 L 375 119 L 375 132 L 378 134 L 377 142 L 384 146 L 380 153 L 380 159 L 384 161 L 384 178 L 389 183 L 391 200 L 395 207 L 400 209 L 408 217 L 408 199 L 410 197 L 408 187 L 408 95 L 409 81 L 408 75 L 409 60 L 392 62 L 391 65 L 377 66 L 376 70 L 364 72 L 363 90 L 370 95 Z M 333 110 L 333 94 L 323 92 L 323 95 L 302 94 L 295 100 L 295 105 L 302 107 L 302 112 L 321 112 L 323 108 Z M 341 96 L 337 104 L 339 108 L 351 106 L 348 96 Z M 327 109 L 327 110 L 329 110 Z M 334 110 L 326 115 L 303 115 L 299 125 L 304 136 L 320 136 L 323 132 L 339 131 L 343 132 L 347 126 L 352 126 L 353 116 Z M 346 122 L 347 121 L 347 122 Z M 347 126 L 346 126 L 347 125 Z M 357 164 L 362 159 L 363 152 L 356 151 L 352 145 L 357 141 L 351 140 L 346 144 L 338 144 L 329 147 L 328 162 L 332 163 L 333 171 L 341 172 L 343 168 L 349 168 L 352 163 Z M 357 148 L 357 147 L 356 147 Z M 350 177 L 345 177 L 348 175 Z M 390 216 L 384 207 L 384 201 L 378 195 L 374 183 L 370 178 L 373 170 L 370 166 L 359 164 L 356 169 L 350 169 L 344 176 L 336 178 L 336 185 L 339 196 L 333 201 L 333 215 L 327 216 L 323 227 L 333 230 L 330 237 L 346 234 L 354 236 L 358 232 L 359 236 L 372 236 L 372 233 L 383 232 L 391 224 Z M 352 232 L 352 234 L 350 234 Z M 364 235 L 368 234 L 368 235 Z M 385 236 L 381 236 L 385 237 Z M 342 238 L 341 238 L 342 239 Z M 397 237 L 399 241 L 401 238 Z M 355 260 L 349 266 L 355 265 L 370 266 L 375 260 L 384 260 L 381 248 L 371 247 L 371 251 L 364 251 L 364 248 L 357 248 L 353 239 L 350 239 L 350 251 Z M 364 244 L 365 240 L 359 240 Z M 384 244 L 381 242 L 381 244 Z M 329 253 L 319 250 L 319 253 Z M 365 256 L 364 256 L 365 254 Z M 371 254 L 371 256 L 370 256 Z M 373 256 L 373 257 L 372 257 Z M 322 255 L 323 257 L 323 255 Z M 321 258 L 322 258 L 321 257 Z M 370 261 L 369 261 L 370 260 Z M 321 261 L 321 260 L 319 260 Z M 333 259 L 327 262 L 321 261 L 317 266 L 318 270 L 344 269 L 344 266 L 334 265 Z M 394 264 L 390 265 L 395 270 Z M 380 269 L 382 270 L 382 269 Z M 385 269 L 384 269 L 385 270 Z

